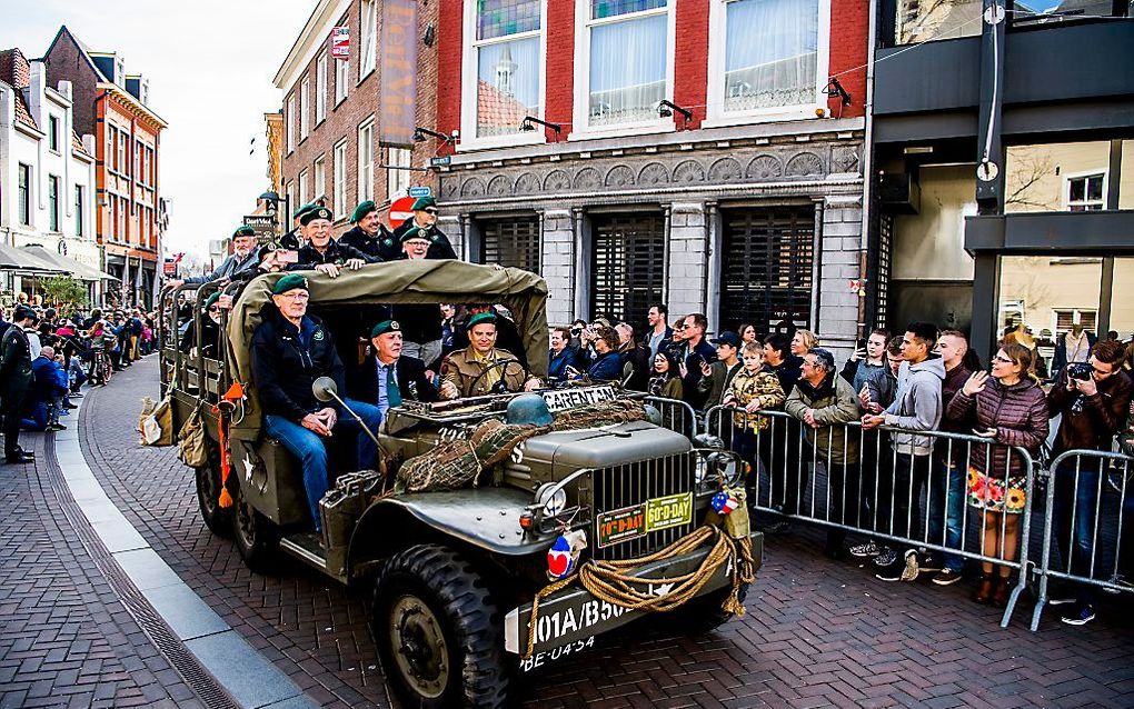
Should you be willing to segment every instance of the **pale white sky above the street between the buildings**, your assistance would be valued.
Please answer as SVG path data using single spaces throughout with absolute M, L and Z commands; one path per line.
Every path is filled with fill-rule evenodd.
M 272 77 L 315 2 L 39 0 L 0 9 L 0 49 L 35 59 L 67 25 L 150 79 L 150 109 L 169 124 L 159 159 L 159 189 L 171 200 L 164 247 L 204 255 L 270 186 L 263 115 L 282 100 Z

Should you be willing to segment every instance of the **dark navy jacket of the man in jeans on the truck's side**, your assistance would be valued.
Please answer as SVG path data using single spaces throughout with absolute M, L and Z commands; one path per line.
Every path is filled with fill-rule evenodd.
M 298 423 L 328 406 L 338 408 L 320 402 L 311 391 L 320 377 L 330 377 L 339 391 L 346 391 L 342 362 L 323 321 L 304 315 L 301 331 L 272 303 L 264 306 L 262 314 L 264 321 L 252 335 L 252 381 L 263 412 Z

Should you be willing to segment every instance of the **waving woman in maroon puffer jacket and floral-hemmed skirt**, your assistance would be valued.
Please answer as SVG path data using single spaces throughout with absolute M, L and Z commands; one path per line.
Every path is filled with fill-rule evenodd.
M 1025 345 L 1005 344 L 992 357 L 991 369 L 991 381 L 983 371 L 965 381 L 949 403 L 948 415 L 958 422 L 975 419 L 973 432 L 997 444 L 970 448 L 968 504 L 983 510 L 984 556 L 1014 562 L 1019 551 L 1019 518 L 1027 509 L 1027 465 L 1010 447 L 1038 455 L 1048 438 L 1048 411 L 1034 375 L 1035 355 Z M 983 562 L 981 571 L 973 600 L 1002 608 L 1012 568 L 1001 566 L 995 584 L 992 563 Z

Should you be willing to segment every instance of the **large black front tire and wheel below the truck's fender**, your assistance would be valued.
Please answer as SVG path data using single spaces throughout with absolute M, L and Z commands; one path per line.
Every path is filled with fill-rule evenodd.
M 390 557 L 374 582 L 370 630 L 407 707 L 500 707 L 511 670 L 502 618 L 459 554 L 421 545 Z

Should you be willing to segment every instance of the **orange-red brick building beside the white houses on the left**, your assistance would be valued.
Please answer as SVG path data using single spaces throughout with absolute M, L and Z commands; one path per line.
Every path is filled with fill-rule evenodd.
M 161 254 L 159 160 L 162 120 L 145 77 L 126 74 L 115 52 L 94 52 L 64 26 L 43 56 L 51 83 L 70 82 L 75 128 L 95 136 L 99 243 L 107 271 L 121 279 L 118 299 L 153 303 Z

